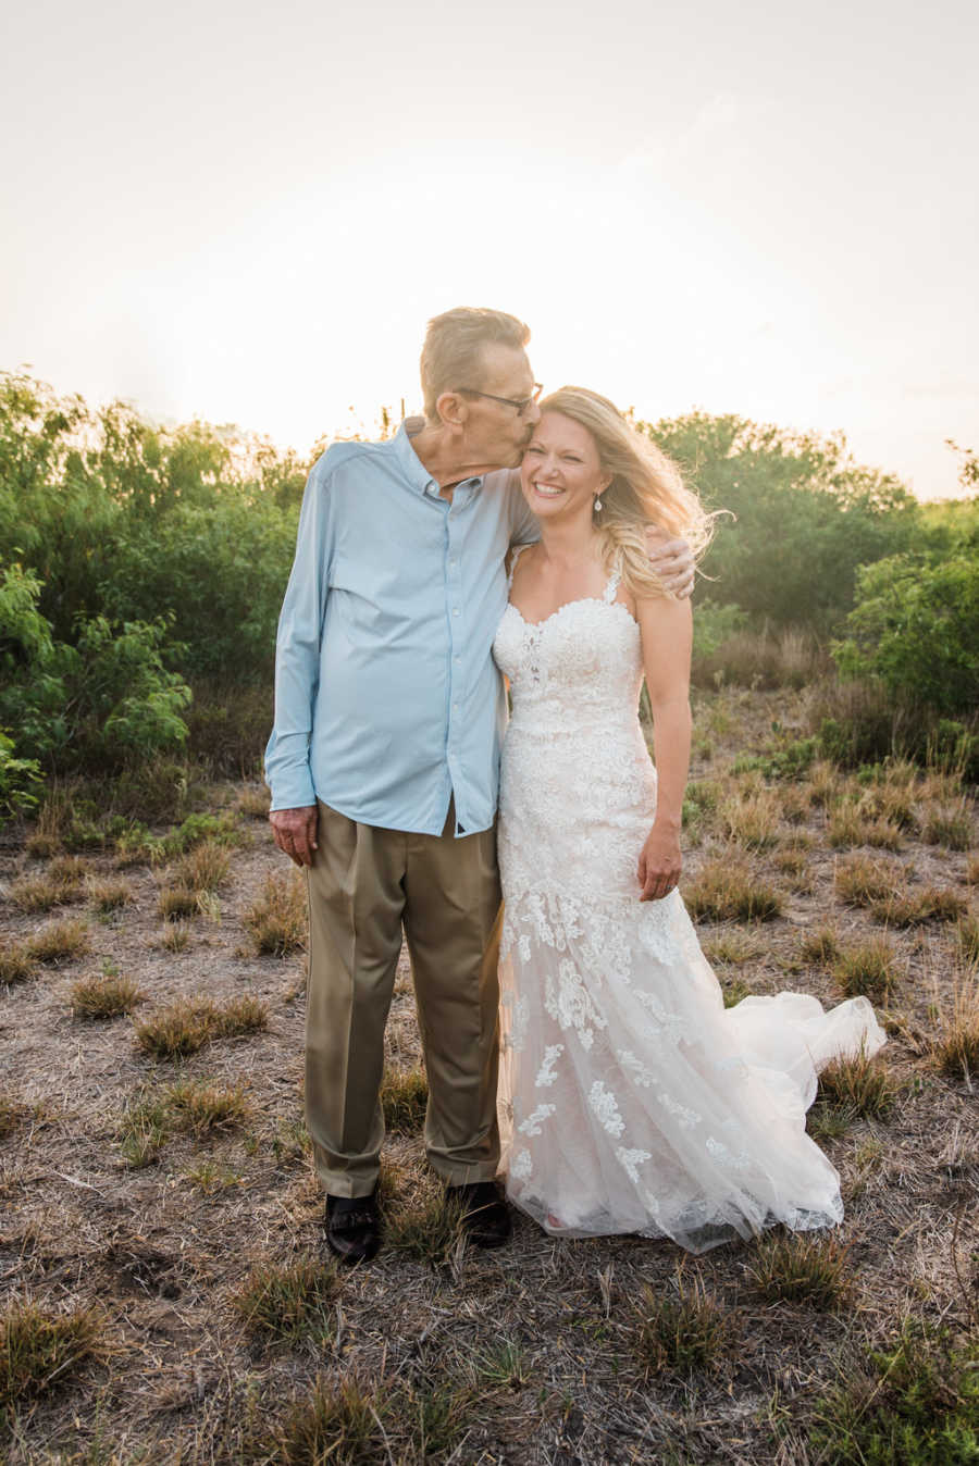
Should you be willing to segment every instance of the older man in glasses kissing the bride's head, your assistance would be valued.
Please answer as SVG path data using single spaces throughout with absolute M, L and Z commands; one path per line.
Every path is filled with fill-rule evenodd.
M 500 311 L 429 323 L 425 418 L 315 463 L 278 622 L 270 818 L 308 868 L 306 1124 L 327 1242 L 346 1262 L 380 1242 L 378 1095 L 402 928 L 428 1161 L 473 1242 L 510 1234 L 494 1182 L 506 701 L 491 645 L 507 548 L 538 538 L 507 472 L 539 418 L 529 334 Z M 686 594 L 686 547 L 652 557 Z

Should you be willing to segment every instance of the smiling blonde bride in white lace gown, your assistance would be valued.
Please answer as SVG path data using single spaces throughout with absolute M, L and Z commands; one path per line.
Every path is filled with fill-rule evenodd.
M 500 1119 L 509 1198 L 558 1236 L 701 1252 L 843 1217 L 805 1129 L 819 1067 L 884 1032 L 866 998 L 781 992 L 725 1010 L 677 880 L 690 749 L 689 601 L 645 531 L 711 522 L 607 399 L 541 403 L 520 469 L 541 539 L 514 553 L 494 642 L 503 749 Z M 655 768 L 639 727 L 642 679 Z

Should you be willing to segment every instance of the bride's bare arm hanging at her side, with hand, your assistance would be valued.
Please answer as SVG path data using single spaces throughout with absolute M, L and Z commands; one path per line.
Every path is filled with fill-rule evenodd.
M 639 856 L 640 900 L 660 900 L 680 880 L 683 792 L 690 767 L 690 647 L 693 617 L 687 600 L 636 600 L 642 664 L 652 710 L 657 765 L 657 817 Z

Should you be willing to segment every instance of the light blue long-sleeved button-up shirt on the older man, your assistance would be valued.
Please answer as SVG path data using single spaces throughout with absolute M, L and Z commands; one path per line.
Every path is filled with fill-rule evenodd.
M 443 498 L 407 424 L 387 443 L 327 449 L 278 617 L 273 809 L 319 798 L 362 824 L 441 834 L 454 795 L 456 834 L 490 828 L 506 724 L 491 655 L 503 561 L 538 534 L 513 469 Z

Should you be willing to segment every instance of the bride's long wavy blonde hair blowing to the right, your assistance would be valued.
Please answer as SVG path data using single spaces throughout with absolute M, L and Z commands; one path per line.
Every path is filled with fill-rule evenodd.
M 613 475 L 599 496 L 601 512 L 592 515 L 604 539 L 608 569 L 617 561 L 626 585 L 638 595 L 662 595 L 660 578 L 649 564 L 646 528 L 660 525 L 684 538 L 699 560 L 711 542 L 714 516 L 686 487 L 673 459 L 638 432 L 608 397 L 586 387 L 558 387 L 539 408 L 541 412 L 560 412 L 586 428 L 595 440 L 602 474 Z

